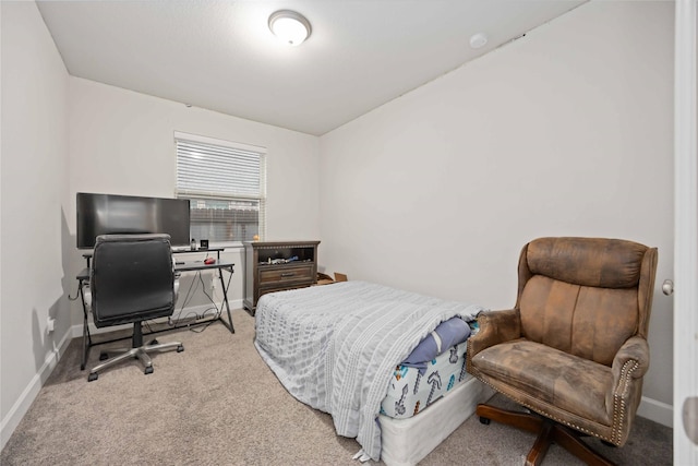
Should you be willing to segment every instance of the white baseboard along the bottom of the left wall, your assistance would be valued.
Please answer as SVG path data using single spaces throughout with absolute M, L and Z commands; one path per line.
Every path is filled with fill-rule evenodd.
M 26 415 L 26 413 L 29 410 L 32 403 L 34 403 L 34 399 L 39 394 L 39 391 L 48 380 L 51 372 L 53 372 L 53 369 L 65 353 L 65 349 L 68 348 L 71 339 L 72 332 L 69 330 L 61 338 L 58 347 L 55 346 L 53 349 L 46 355 L 46 359 L 44 360 L 44 363 L 41 365 L 39 370 L 36 372 L 36 375 L 32 378 L 32 381 L 28 383 L 26 389 L 24 389 L 12 408 L 10 408 L 8 415 L 2 419 L 2 423 L 0 425 L 0 439 L 2 442 L 2 446 L 0 446 L 0 450 L 4 449 L 5 443 L 8 443 L 8 440 L 10 440 L 10 437 L 12 437 L 12 432 L 14 432 L 14 429 L 17 428 L 24 415 Z

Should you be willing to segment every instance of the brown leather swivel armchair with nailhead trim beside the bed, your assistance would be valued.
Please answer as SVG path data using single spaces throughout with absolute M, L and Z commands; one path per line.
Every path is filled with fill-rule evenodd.
M 467 369 L 532 413 L 479 405 L 483 423 L 539 434 L 588 464 L 611 464 L 581 435 L 625 444 L 649 367 L 657 248 L 602 238 L 540 238 L 519 258 L 516 307 L 478 318 Z

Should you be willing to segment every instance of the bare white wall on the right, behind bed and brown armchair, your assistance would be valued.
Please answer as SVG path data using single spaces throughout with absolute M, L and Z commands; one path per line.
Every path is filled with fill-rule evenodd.
M 325 134 L 321 262 L 504 309 L 533 238 L 658 247 L 645 396 L 671 425 L 672 67 L 672 2 L 593 1 Z

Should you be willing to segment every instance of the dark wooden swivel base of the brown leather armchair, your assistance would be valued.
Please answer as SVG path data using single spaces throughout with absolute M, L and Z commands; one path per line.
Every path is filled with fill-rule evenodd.
M 581 440 L 581 434 L 566 426 L 554 422 L 534 413 L 518 413 L 489 405 L 478 405 L 476 414 L 480 422 L 490 420 L 505 423 L 528 432 L 538 433 L 533 447 L 526 457 L 526 466 L 538 466 L 543 461 L 551 443 L 557 443 L 579 459 L 592 466 L 614 466 L 614 463 L 594 452 Z

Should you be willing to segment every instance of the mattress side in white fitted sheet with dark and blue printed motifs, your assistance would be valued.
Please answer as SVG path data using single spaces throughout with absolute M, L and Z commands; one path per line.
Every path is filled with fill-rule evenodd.
M 432 359 L 424 371 L 399 365 L 393 372 L 381 415 L 406 419 L 422 413 L 472 378 L 466 372 L 467 343 L 452 346 Z

